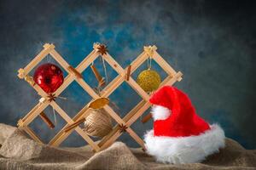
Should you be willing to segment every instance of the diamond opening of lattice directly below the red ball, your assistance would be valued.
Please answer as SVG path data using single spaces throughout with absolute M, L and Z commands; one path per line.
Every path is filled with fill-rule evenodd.
M 44 114 L 49 118 L 50 122 L 52 122 L 55 127 L 50 129 L 46 122 L 40 116 L 37 116 L 29 125 L 32 130 L 38 135 L 44 144 L 48 144 L 50 139 L 52 139 L 56 133 L 58 133 L 62 127 L 64 127 L 67 122 L 59 115 L 57 111 L 55 111 L 56 116 L 56 124 L 55 117 L 52 107 L 49 105 L 44 109 Z

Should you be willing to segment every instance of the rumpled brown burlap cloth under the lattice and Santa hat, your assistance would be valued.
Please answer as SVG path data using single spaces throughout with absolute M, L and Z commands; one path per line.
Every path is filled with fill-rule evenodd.
M 98 153 L 89 146 L 51 147 L 1 123 L 0 144 L 0 169 L 256 169 L 256 150 L 245 150 L 232 139 L 226 139 L 226 147 L 206 161 L 186 165 L 156 162 L 143 150 L 131 149 L 121 142 Z

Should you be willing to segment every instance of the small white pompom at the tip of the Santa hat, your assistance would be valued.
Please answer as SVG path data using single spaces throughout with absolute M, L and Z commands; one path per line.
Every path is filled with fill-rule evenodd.
M 154 105 L 152 107 L 151 114 L 153 116 L 154 121 L 156 120 L 165 120 L 171 115 L 171 111 L 166 107 L 160 105 Z

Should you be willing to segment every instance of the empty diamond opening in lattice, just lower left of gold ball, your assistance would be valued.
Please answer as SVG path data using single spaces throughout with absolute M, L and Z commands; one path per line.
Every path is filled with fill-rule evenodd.
M 119 88 L 109 96 L 110 106 L 120 117 L 124 117 L 142 98 L 127 82 L 123 82 Z

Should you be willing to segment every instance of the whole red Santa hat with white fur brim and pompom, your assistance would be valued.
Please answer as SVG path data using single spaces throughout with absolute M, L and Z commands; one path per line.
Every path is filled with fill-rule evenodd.
M 154 130 L 145 134 L 145 147 L 157 161 L 193 163 L 203 161 L 224 147 L 224 131 L 196 115 L 189 97 L 165 86 L 149 99 L 153 104 Z

